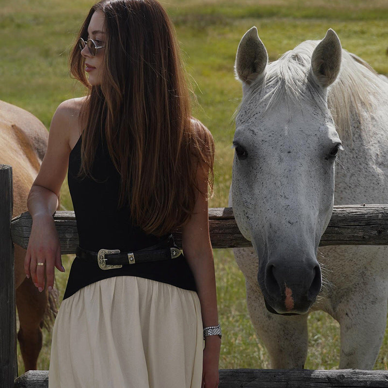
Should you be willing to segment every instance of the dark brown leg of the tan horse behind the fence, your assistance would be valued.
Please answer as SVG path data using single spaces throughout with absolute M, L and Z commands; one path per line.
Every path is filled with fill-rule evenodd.
M 48 291 L 39 292 L 31 279 L 25 279 L 16 289 L 16 307 L 20 328 L 17 339 L 25 371 L 35 370 L 42 348 L 42 327 L 48 302 Z

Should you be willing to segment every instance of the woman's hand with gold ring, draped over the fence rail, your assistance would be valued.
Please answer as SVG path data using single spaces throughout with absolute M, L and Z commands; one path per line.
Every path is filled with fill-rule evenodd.
M 43 263 L 39 264 L 38 263 Z M 45 288 L 45 272 L 47 287 L 54 287 L 54 267 L 65 272 L 61 259 L 61 246 L 54 219 L 49 214 L 35 215 L 32 221 L 31 235 L 24 259 L 24 271 L 27 277 L 42 292 Z

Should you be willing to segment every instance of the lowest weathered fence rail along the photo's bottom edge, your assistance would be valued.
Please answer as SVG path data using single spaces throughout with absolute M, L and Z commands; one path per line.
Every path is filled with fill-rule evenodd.
M 47 388 L 49 372 L 30 371 L 16 379 L 15 388 Z M 220 370 L 219 388 L 382 388 L 388 371 L 309 371 L 307 369 Z

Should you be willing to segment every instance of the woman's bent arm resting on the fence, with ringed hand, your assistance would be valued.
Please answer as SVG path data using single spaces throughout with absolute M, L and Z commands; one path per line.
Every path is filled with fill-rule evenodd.
M 70 153 L 70 130 L 78 128 L 74 100 L 63 102 L 56 110 L 50 125 L 48 148 L 38 176 L 28 195 L 27 207 L 32 216 L 32 228 L 24 271 L 42 291 L 45 272 L 49 291 L 54 287 L 54 266 L 64 272 L 61 248 L 52 214 L 58 207 L 58 195 L 65 179 Z M 77 120 L 75 116 L 77 115 Z M 43 262 L 45 265 L 37 265 Z

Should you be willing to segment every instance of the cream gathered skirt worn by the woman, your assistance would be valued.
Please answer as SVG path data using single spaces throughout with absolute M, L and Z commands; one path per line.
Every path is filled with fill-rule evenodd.
M 202 352 L 196 292 L 112 277 L 62 302 L 49 388 L 200 388 Z

